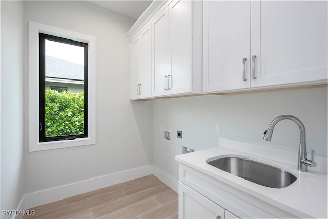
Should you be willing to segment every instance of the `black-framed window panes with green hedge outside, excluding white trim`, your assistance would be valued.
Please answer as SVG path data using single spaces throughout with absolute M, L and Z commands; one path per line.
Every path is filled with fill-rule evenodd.
M 88 137 L 88 44 L 44 33 L 39 43 L 39 141 Z M 79 79 L 84 89 L 59 93 L 46 88 L 47 77 Z

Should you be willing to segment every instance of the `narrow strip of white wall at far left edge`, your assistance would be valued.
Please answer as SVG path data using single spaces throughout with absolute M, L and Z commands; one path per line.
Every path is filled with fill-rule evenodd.
M 1 210 L 24 195 L 23 35 L 23 2 L 1 1 Z

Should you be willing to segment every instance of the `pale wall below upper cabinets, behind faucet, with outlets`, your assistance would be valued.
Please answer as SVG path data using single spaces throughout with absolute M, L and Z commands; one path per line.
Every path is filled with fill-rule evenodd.
M 270 122 L 283 114 L 304 123 L 308 152 L 327 156 L 327 88 L 317 88 L 154 101 L 153 164 L 177 179 L 174 156 L 181 154 L 181 145 L 217 147 L 220 136 L 298 151 L 299 128 L 292 121 L 279 122 L 271 142 L 263 140 Z M 215 133 L 215 124 L 222 125 L 221 135 Z M 172 144 L 161 140 L 160 127 L 172 130 Z M 182 140 L 177 130 L 183 132 Z

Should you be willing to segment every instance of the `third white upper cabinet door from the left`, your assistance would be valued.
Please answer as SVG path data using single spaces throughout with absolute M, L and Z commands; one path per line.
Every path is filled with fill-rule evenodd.
M 152 21 L 152 96 L 168 94 L 168 8 Z

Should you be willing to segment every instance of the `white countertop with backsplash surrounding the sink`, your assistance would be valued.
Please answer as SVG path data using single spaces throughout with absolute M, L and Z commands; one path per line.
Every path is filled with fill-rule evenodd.
M 315 157 L 317 167 L 297 170 L 297 152 L 220 138 L 220 147 L 176 156 L 176 160 L 260 200 L 302 218 L 327 218 L 327 158 Z M 282 189 L 261 186 L 206 163 L 216 156 L 238 155 L 284 169 L 297 180 Z

